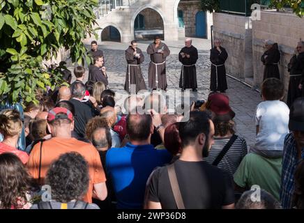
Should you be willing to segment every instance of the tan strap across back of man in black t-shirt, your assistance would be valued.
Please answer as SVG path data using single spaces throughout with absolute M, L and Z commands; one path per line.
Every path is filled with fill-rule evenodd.
M 176 178 L 176 172 L 174 168 L 174 164 L 167 166 L 170 185 L 172 187 L 173 196 L 178 209 L 185 209 L 185 205 L 183 203 L 183 197 L 181 197 L 181 190 L 179 190 L 178 181 Z

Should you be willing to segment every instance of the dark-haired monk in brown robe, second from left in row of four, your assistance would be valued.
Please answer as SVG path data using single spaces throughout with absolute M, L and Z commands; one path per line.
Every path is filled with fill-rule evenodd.
M 160 38 L 155 37 L 154 43 L 151 43 L 146 49 L 151 55 L 149 65 L 149 88 L 166 90 L 166 57 L 170 55 L 170 50 L 165 43 L 160 42 Z

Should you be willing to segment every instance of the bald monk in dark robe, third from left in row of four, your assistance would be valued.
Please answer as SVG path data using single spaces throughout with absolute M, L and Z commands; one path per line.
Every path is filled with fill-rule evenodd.
M 181 78 L 179 80 L 181 91 L 185 89 L 197 91 L 197 68 L 195 63 L 197 63 L 198 58 L 197 48 L 192 46 L 190 38 L 186 38 L 185 47 L 178 54 L 178 60 L 182 63 Z

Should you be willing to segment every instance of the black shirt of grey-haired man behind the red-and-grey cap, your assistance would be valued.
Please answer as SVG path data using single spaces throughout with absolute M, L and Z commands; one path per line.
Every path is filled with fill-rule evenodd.
M 92 110 L 88 105 L 76 99 L 71 99 L 70 102 L 75 108 L 74 130 L 79 137 L 84 138 L 86 133 L 86 123 L 93 118 Z

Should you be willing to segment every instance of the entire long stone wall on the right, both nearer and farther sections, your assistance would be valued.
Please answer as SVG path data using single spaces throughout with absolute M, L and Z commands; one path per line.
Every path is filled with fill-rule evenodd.
M 263 80 L 261 55 L 265 50 L 264 41 L 273 40 L 278 43 L 281 52 L 280 78 L 287 91 L 287 65 L 298 41 L 304 40 L 304 18 L 297 17 L 288 9 L 278 12 L 268 8 L 261 8 L 252 16 L 251 12 L 249 16 L 213 13 L 214 37 L 222 40 L 229 53 L 227 73 L 259 88 Z

